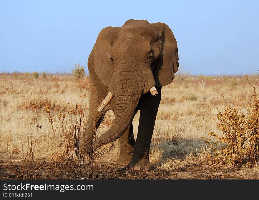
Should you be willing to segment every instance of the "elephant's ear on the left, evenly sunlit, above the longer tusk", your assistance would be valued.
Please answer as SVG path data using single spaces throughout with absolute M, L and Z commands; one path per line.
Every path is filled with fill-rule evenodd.
M 116 36 L 118 27 L 106 27 L 99 33 L 93 48 L 94 71 L 102 84 L 109 87 L 114 65 L 111 61 L 110 50 L 113 46 L 113 38 Z

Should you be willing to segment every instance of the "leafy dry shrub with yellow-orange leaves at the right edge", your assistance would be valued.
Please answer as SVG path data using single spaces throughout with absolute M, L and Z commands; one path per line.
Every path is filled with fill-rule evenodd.
M 223 112 L 218 110 L 218 127 L 224 134 L 222 137 L 210 132 L 210 136 L 218 140 L 213 143 L 205 139 L 211 152 L 207 154 L 210 164 L 228 164 L 250 167 L 259 163 L 259 100 L 255 91 L 255 85 L 248 80 L 253 88 L 253 103 L 247 109 L 245 115 L 235 106 L 227 104 Z M 223 99 L 224 96 L 221 93 Z M 222 145 L 220 145 L 222 143 Z

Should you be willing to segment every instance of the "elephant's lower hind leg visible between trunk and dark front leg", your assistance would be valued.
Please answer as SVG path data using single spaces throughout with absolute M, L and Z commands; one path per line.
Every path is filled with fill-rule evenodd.
M 119 138 L 120 154 L 116 160 L 116 164 L 128 165 L 131 160 L 133 149 L 135 145 L 135 138 L 133 135 L 132 123 Z

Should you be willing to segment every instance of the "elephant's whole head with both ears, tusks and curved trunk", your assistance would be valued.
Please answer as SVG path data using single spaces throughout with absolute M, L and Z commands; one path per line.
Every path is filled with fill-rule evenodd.
M 97 111 L 112 98 L 116 98 L 116 108 L 111 128 L 97 138 L 96 146 L 119 138 L 132 122 L 143 94 L 156 95 L 156 87 L 171 83 L 178 67 L 177 42 L 165 23 L 131 19 L 122 27 L 102 29 L 88 68 L 90 75 L 107 88 Z

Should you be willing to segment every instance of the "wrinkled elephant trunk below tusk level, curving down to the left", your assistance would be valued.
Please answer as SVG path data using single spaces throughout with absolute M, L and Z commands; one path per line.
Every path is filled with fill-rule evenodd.
M 135 95 L 132 95 L 131 90 L 132 89 L 123 89 L 123 91 L 120 92 L 122 95 L 116 96 L 117 105 L 112 126 L 103 135 L 96 139 L 95 148 L 117 140 L 122 136 L 128 126 L 130 126 L 141 97 L 141 94 L 136 95 L 135 93 Z

